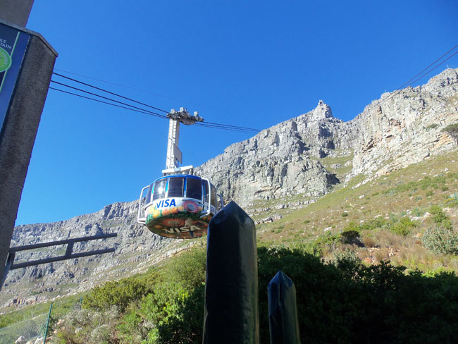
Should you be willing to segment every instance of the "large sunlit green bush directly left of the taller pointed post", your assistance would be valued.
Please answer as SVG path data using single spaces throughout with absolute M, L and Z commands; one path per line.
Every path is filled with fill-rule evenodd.
M 140 307 L 120 321 L 121 343 L 202 342 L 205 264 L 205 247 L 193 247 L 161 266 Z

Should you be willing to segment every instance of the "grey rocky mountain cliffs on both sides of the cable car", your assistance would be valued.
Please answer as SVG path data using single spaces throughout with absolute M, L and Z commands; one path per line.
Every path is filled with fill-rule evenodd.
M 457 88 L 458 69 L 447 69 L 426 85 L 383 94 L 349 122 L 334 118 L 330 106 L 320 101 L 308 113 L 230 145 L 195 172 L 210 178 L 225 199 L 241 205 L 253 207 L 256 199 L 284 199 L 282 207 L 288 207 L 294 195 L 304 199 L 297 204 L 305 207 L 359 174 L 370 180 L 456 149 L 457 142 L 443 129 L 458 123 Z M 0 305 L 23 305 L 87 290 L 147 269 L 190 245 L 153 235 L 138 225 L 136 205 L 115 203 L 66 221 L 16 227 L 12 246 L 116 232 L 117 238 L 75 245 L 75 252 L 102 247 L 116 247 L 116 252 L 11 271 Z M 56 255 L 56 250 L 35 250 L 16 259 L 51 254 Z

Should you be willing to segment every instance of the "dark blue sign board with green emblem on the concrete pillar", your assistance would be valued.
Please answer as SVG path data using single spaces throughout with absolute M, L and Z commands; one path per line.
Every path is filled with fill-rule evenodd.
M 0 23 L 0 132 L 29 42 L 27 33 Z

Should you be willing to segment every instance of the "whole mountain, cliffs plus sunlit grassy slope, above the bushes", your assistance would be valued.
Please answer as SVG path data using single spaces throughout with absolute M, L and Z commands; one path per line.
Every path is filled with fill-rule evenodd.
M 196 172 L 252 215 L 260 245 L 306 247 L 329 259 L 351 251 L 366 264 L 392 259 L 412 268 L 423 264 L 423 271 L 455 269 L 453 257 L 427 251 L 420 237 L 434 225 L 431 205 L 457 228 L 457 142 L 444 130 L 458 122 L 457 72 L 447 69 L 421 87 L 383 94 L 349 122 L 319 102 L 309 113 L 231 145 Z M 114 246 L 116 253 L 11 271 L 0 305 L 88 290 L 146 271 L 192 245 L 149 233 L 135 223 L 136 214 L 136 202 L 115 203 L 66 221 L 16 227 L 11 245 L 116 232 L 116 239 L 75 247 Z M 402 220 L 407 217 L 414 225 Z M 404 227 L 393 232 L 402 221 L 409 233 Z M 344 240 L 344 231 L 357 234 Z

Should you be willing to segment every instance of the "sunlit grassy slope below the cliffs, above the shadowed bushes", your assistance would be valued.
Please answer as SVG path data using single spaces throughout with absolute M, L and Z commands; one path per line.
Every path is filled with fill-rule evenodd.
M 439 205 L 458 228 L 458 152 L 450 152 L 414 164 L 388 176 L 361 185 L 362 176 L 354 178 L 345 188 L 335 190 L 304 209 L 283 212 L 283 219 L 257 226 L 262 245 L 295 247 L 314 242 L 328 233 L 341 233 L 349 223 L 360 224 L 382 216 L 396 223 L 409 216 L 419 224 L 411 235 L 395 235 L 388 231 L 363 231 L 361 243 L 338 243 L 325 247 L 323 256 L 330 258 L 335 250 L 353 250 L 360 259 L 390 259 L 411 269 L 431 271 L 458 270 L 458 259 L 431 254 L 419 238 L 433 220 L 426 212 L 431 205 Z M 278 202 L 278 201 L 276 201 Z M 266 204 L 264 204 L 266 206 Z M 277 211 L 278 212 L 278 211 Z M 369 259 L 366 262 L 369 263 Z

